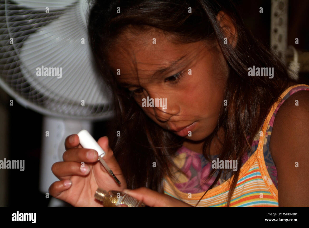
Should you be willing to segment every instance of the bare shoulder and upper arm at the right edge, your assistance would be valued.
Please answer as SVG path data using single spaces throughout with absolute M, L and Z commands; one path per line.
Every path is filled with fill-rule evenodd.
M 283 102 L 269 149 L 277 168 L 279 206 L 308 206 L 309 91 L 295 92 Z

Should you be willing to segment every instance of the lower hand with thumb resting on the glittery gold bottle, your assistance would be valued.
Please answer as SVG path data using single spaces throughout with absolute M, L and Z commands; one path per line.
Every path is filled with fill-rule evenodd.
M 193 207 L 176 198 L 145 187 L 134 190 L 124 189 L 122 191 L 150 207 Z

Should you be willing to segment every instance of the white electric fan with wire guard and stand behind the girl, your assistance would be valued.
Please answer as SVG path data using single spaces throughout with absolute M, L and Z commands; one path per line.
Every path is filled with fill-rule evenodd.
M 87 39 L 87 0 L 0 1 L 0 86 L 44 115 L 40 191 L 58 179 L 66 136 L 113 116 L 111 91 L 97 76 Z M 50 206 L 59 205 L 53 198 Z M 61 203 L 60 203 L 61 205 Z

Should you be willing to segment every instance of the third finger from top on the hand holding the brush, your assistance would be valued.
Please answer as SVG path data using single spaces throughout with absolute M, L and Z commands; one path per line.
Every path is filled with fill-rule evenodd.
M 67 179 L 71 175 L 85 176 L 89 173 L 90 167 L 87 164 L 78 162 L 56 162 L 52 165 L 53 174 L 60 180 Z

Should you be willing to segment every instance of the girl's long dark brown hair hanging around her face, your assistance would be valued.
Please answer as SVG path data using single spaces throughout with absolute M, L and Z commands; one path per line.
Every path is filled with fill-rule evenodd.
M 100 76 L 112 90 L 116 113 L 115 128 L 108 135 L 110 147 L 125 175 L 127 188 L 146 187 L 163 193 L 163 178 L 166 175 L 174 178 L 170 168 L 180 170 L 172 159 L 184 138 L 157 125 L 142 111 L 128 91 L 119 86 L 108 65 L 109 48 L 129 25 L 140 31 L 155 27 L 182 43 L 210 41 L 212 38 L 218 40 L 230 69 L 225 89 L 225 99 L 228 102 L 227 106 L 222 103 L 218 125 L 205 138 L 203 155 L 210 160 L 210 142 L 216 137 L 218 129 L 223 127 L 226 134 L 219 159 L 239 161 L 227 197 L 229 206 L 243 155 L 252 150 L 253 138 L 272 104 L 277 101 L 288 83 L 293 81 L 288 76 L 286 65 L 245 27 L 232 1 L 97 0 L 89 3 L 89 42 Z M 120 7 L 121 13 L 117 13 L 117 7 Z M 188 13 L 188 7 L 191 7 L 192 13 Z M 219 11 L 229 15 L 235 25 L 235 48 L 223 42 L 225 36 L 216 18 Z M 273 67 L 273 78 L 248 76 L 248 68 L 253 65 Z M 117 131 L 120 131 L 121 137 L 117 137 Z M 247 139 L 248 135 L 250 137 Z M 205 182 L 215 172 L 216 169 L 212 169 Z M 214 187 L 223 173 L 225 171 L 219 169 L 219 174 L 209 189 Z

